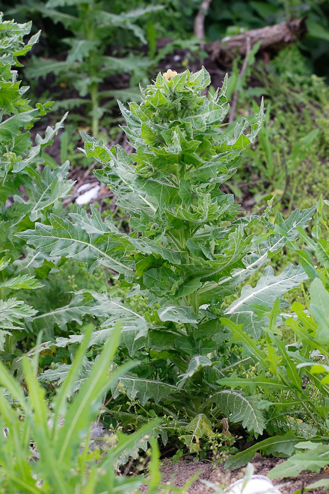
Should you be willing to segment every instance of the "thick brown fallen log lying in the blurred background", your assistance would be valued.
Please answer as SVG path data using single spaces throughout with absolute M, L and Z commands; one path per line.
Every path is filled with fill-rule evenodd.
M 214 60 L 219 57 L 221 52 L 224 52 L 231 57 L 235 52 L 241 55 L 246 55 L 247 52 L 247 38 L 250 39 L 250 48 L 257 41 L 261 40 L 260 50 L 266 48 L 280 49 L 287 44 L 295 42 L 298 38 L 301 38 L 307 32 L 306 17 L 295 19 L 289 22 L 282 22 L 280 24 L 274 24 L 274 26 L 266 26 L 260 29 L 251 29 L 236 36 L 227 36 L 222 40 L 213 41 L 205 45 L 206 51 L 211 55 Z

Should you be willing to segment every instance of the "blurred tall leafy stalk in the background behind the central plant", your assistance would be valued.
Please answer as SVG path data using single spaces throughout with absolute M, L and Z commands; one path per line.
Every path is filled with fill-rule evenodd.
M 84 106 L 91 119 L 92 135 L 99 135 L 99 122 L 106 108 L 101 106 L 101 100 L 108 100 L 118 91 L 101 91 L 100 84 L 108 75 L 121 73 L 140 74 L 145 71 L 151 61 L 145 56 L 128 55 L 122 58 L 104 54 L 113 40 L 118 29 L 131 31 L 142 43 L 146 44 L 144 30 L 136 24 L 136 19 L 164 8 L 162 5 L 149 5 L 145 8 L 130 10 L 121 14 L 109 11 L 108 2 L 103 0 L 74 1 L 48 0 L 45 4 L 32 2 L 32 7 L 44 17 L 50 17 L 53 22 L 61 23 L 69 32 L 63 40 L 68 45 L 68 55 L 65 61 L 48 59 L 46 61 L 33 58 L 25 74 L 30 79 L 45 77 L 53 73 L 63 83 L 78 91 L 78 98 L 65 99 L 56 102 L 57 107 L 67 108 Z M 67 7 L 70 13 L 63 12 Z M 140 77 L 140 75 L 139 75 Z M 121 97 L 125 93 L 131 95 L 130 88 L 119 91 Z M 113 101 L 113 100 L 112 100 Z M 107 105 L 113 104 L 107 102 Z

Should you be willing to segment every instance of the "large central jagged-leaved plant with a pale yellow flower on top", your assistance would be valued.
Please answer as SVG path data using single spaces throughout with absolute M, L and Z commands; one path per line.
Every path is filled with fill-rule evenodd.
M 204 68 L 195 74 L 171 71 L 141 89 L 139 105 L 132 102 L 126 109 L 119 103 L 127 123 L 123 129 L 135 149 L 130 155 L 82 134 L 86 155 L 104 165 L 96 176 L 129 213 L 133 233 L 119 231 L 109 217 L 102 221 L 93 208 L 91 216 L 79 209 L 65 221 L 52 215 L 51 224 L 37 223 L 20 237 L 40 252 L 83 260 L 89 270 L 107 266 L 131 288 L 130 297 L 146 299 L 147 310 L 140 313 L 129 309 L 129 300 L 108 300 L 111 316 L 92 338 L 93 343 L 106 340 L 120 319 L 123 355 L 141 361 L 112 388 L 114 397 L 125 390 L 142 406 L 160 410 L 161 403 L 179 416 L 211 409 L 213 416 L 224 414 L 262 434 L 267 418 L 257 397 L 217 382 L 241 361 L 241 344 L 230 343 L 230 323 L 243 325 L 256 341 L 276 299 L 287 305 L 283 295 L 307 275 L 301 266 L 290 264 L 277 275 L 266 266 L 255 286 L 244 286 L 231 303 L 228 297 L 232 300 L 274 253 L 293 244 L 313 209 L 297 209 L 285 221 L 277 214 L 273 223 L 270 209 L 240 217 L 233 195 L 220 186 L 254 142 L 263 105 L 256 124 L 248 127 L 242 119 L 228 137 L 223 127 L 227 79 L 220 91 L 205 96 L 209 83 Z M 104 303 L 106 296 L 97 296 Z M 72 335 L 56 344 L 81 340 L 82 335 Z M 258 361 L 251 352 L 247 358 Z M 49 372 L 58 378 L 60 370 Z

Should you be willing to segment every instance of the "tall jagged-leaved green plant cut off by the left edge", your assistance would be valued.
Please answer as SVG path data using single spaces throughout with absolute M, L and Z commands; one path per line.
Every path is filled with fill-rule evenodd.
M 90 296 L 69 292 L 79 290 L 82 284 L 85 288 L 86 283 L 93 289 L 106 289 L 108 276 L 96 270 L 95 277 L 86 281 L 77 263 L 67 266 L 61 257 L 50 259 L 36 253 L 15 236 L 37 219 L 47 221 L 50 210 L 65 215 L 60 202 L 73 182 L 67 179 L 69 162 L 56 165 L 46 154 L 65 116 L 33 140 L 33 126 L 50 111 L 51 103 L 33 108 L 27 99 L 29 88 L 21 86 L 14 70 L 21 65 L 17 58 L 32 48 L 39 33 L 25 43 L 23 37 L 30 33 L 31 23 L 1 19 L 0 26 L 0 351 L 2 360 L 22 378 L 17 359 L 34 346 L 40 330 L 52 338 L 74 332 L 82 321 L 96 329 L 96 318 L 107 317 L 106 307 L 99 312 L 100 305 L 95 309 Z M 70 352 L 56 359 L 70 359 Z M 52 360 L 51 355 L 41 359 L 43 364 Z

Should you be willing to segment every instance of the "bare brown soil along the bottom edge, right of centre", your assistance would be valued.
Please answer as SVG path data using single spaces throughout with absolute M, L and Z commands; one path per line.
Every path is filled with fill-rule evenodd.
M 254 467 L 254 474 L 266 475 L 277 464 L 284 461 L 282 458 L 263 458 L 256 454 L 251 461 Z M 210 461 L 194 462 L 182 460 L 179 463 L 169 463 L 162 468 L 162 482 L 173 487 L 183 487 L 191 477 L 198 475 L 198 479 L 187 486 L 186 494 L 212 494 L 215 491 L 207 487 L 202 481 L 209 481 L 221 488 L 226 488 L 238 479 L 241 479 L 246 472 L 246 468 L 238 468 L 233 471 L 224 470 L 220 464 L 212 466 Z M 308 492 L 323 494 L 323 488 L 307 490 L 307 486 L 321 479 L 329 479 L 329 474 L 301 472 L 296 477 L 285 479 L 275 479 L 273 484 L 282 494 L 292 494 Z M 145 487 L 142 492 L 147 492 Z M 327 491 L 328 492 L 328 491 Z

